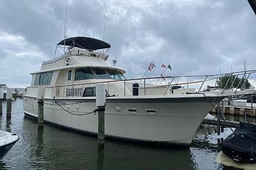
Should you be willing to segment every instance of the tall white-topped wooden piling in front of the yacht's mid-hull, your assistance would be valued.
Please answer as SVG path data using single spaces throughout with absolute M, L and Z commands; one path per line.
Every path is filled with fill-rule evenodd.
M 96 85 L 96 106 L 98 106 L 98 148 L 104 148 L 105 138 L 105 84 Z

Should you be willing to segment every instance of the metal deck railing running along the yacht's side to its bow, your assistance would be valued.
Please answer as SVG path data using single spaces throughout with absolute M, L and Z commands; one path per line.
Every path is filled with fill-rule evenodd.
M 54 87 L 46 87 L 49 97 L 82 97 L 84 90 L 88 88 L 87 96 L 95 96 L 95 85 L 97 83 L 105 83 L 106 91 L 108 96 L 132 96 L 132 85 L 133 83 L 138 83 L 138 95 L 171 95 L 173 94 L 173 87 L 185 86 L 180 93 L 187 93 L 191 90 L 193 93 L 199 93 L 205 90 L 221 90 L 221 93 L 225 90 L 234 90 L 236 94 L 237 89 L 244 90 L 246 81 L 252 74 L 255 74 L 256 70 L 250 71 L 237 71 L 233 73 L 222 73 L 222 74 L 209 74 L 209 75 L 186 75 L 186 76 L 157 76 L 148 78 L 132 78 L 126 80 L 108 80 L 108 81 L 98 81 L 93 83 L 79 83 L 76 85 L 59 85 Z M 220 89 L 221 78 L 226 77 L 227 82 Z M 239 79 L 237 79 L 239 78 Z M 159 82 L 160 80 L 160 82 Z M 190 80 L 190 81 L 184 81 Z M 239 80 L 239 88 L 234 88 L 235 81 Z M 159 83 L 157 83 L 159 82 Z M 206 82 L 210 85 L 214 85 L 210 88 L 205 88 Z M 116 89 L 114 83 L 123 83 L 123 85 L 118 85 Z M 190 87 L 190 89 L 189 89 Z M 192 88 L 191 88 L 192 87 Z M 91 89 L 90 89 L 91 88 Z M 193 89 L 193 90 L 192 90 Z M 180 89 L 179 89 L 180 90 Z M 122 92 L 121 92 L 122 91 Z M 175 89 L 174 89 L 175 93 Z

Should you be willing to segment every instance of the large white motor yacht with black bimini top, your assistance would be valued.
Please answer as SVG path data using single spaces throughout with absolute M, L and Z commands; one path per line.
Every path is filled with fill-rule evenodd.
M 72 37 L 57 46 L 65 46 L 65 53 L 44 61 L 40 71 L 31 73 L 24 113 L 38 117 L 36 97 L 39 87 L 44 87 L 45 122 L 75 131 L 97 134 L 97 114 L 89 114 L 97 108 L 97 83 L 106 85 L 106 137 L 177 145 L 189 145 L 212 105 L 234 95 L 199 92 L 202 86 L 198 92 L 175 94 L 172 81 L 157 87 L 150 83 L 152 78 L 127 80 L 124 69 L 109 64 L 108 50 L 102 49 L 110 45 L 99 39 Z

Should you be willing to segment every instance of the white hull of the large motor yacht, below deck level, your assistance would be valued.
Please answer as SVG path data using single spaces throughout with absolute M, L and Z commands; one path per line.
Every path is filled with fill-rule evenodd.
M 72 113 L 82 114 L 95 110 L 95 99 L 92 97 L 89 100 L 84 97 L 56 100 L 64 104 L 63 108 Z M 180 99 L 172 99 L 168 102 L 166 100 L 145 102 L 145 100 L 134 101 L 128 98 L 107 99 L 105 134 L 113 138 L 189 145 L 196 129 L 211 108 L 211 104 L 207 101 L 184 102 Z M 136 109 L 137 113 L 129 112 L 129 109 Z M 37 110 L 36 98 L 24 96 L 24 112 L 37 117 Z M 147 110 L 156 110 L 156 113 Z M 77 131 L 97 134 L 97 113 L 84 116 L 71 115 L 56 105 L 53 99 L 45 99 L 44 120 Z

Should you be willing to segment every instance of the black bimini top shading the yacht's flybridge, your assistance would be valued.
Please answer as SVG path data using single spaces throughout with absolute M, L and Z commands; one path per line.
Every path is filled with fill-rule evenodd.
M 64 40 L 60 41 L 57 45 L 64 45 Z M 100 50 L 104 48 L 110 48 L 111 45 L 95 38 L 76 36 L 65 39 L 65 45 L 74 46 L 77 48 L 83 48 L 86 50 Z

